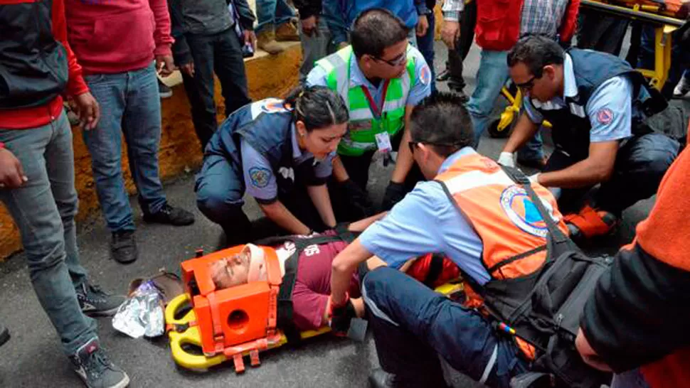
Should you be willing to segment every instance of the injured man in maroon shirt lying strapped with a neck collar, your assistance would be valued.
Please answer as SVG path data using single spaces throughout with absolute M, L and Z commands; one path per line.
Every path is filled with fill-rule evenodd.
M 284 237 L 277 237 L 273 239 L 274 242 L 270 239 L 258 242 L 258 244 L 275 248 L 283 276 L 286 272 L 292 271 L 289 261 L 294 260 L 294 254 L 297 252 L 299 255 L 297 262 L 294 262 L 297 275 L 292 289 L 292 324 L 297 330 L 317 330 L 325 325 L 331 325 L 345 332 L 351 318 L 355 316 L 361 318 L 364 315 L 359 277 L 363 276 L 363 271 L 386 265 L 386 263 L 373 257 L 366 263 L 366 267 L 360 268 L 359 274 L 351 276 L 349 294 L 352 298 L 347 306 L 348 314 L 334 318 L 333 322 L 331 322 L 329 300 L 331 264 L 337 254 L 349 245 L 349 239 L 354 239 L 355 235 L 382 215 L 383 213 L 368 217 L 336 230 L 329 230 L 322 235 L 290 236 L 285 238 L 285 241 L 280 241 Z M 302 249 L 296 247 L 295 243 L 299 243 L 299 240 L 304 242 L 299 244 Z M 227 289 L 248 281 L 264 280 L 266 279 L 264 263 L 262 249 L 254 244 L 247 244 L 239 254 L 209 264 L 211 279 L 216 284 L 216 289 Z M 432 288 L 460 277 L 460 269 L 457 265 L 437 254 L 425 254 L 411 259 L 399 269 Z

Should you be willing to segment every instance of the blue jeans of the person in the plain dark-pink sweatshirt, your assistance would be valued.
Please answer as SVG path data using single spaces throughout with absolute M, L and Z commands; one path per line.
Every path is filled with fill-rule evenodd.
M 84 77 L 100 104 L 100 122 L 83 131 L 91 153 L 96 193 L 112 232 L 134 230 L 134 216 L 122 178 L 122 134 L 127 141 L 129 170 L 144 212 L 159 211 L 166 203 L 158 176 L 161 142 L 161 100 L 156 70 L 147 68 Z

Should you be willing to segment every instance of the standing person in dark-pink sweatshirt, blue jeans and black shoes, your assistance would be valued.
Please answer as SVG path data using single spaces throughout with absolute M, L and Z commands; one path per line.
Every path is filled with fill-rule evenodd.
M 134 215 L 122 178 L 122 135 L 145 222 L 190 225 L 194 216 L 167 203 L 158 175 L 161 102 L 156 70 L 174 70 L 165 0 L 65 0 L 68 38 L 103 117 L 84 142 L 110 251 L 120 263 L 137 259 Z M 155 65 L 154 65 L 155 59 Z

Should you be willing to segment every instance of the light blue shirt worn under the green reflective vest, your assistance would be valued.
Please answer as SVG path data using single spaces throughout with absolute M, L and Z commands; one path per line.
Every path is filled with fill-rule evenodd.
M 424 56 L 414 47 L 408 47 L 408 55 L 415 58 L 415 79 L 412 80 L 410 94 L 405 104 L 419 104 L 425 97 L 431 94 L 431 71 L 424 60 Z M 327 73 L 321 66 L 314 66 L 307 75 L 307 85 L 309 86 L 328 86 L 326 82 Z M 374 87 L 369 80 L 364 77 L 362 70 L 359 69 L 356 58 L 350 61 L 350 87 L 363 86 L 371 93 L 377 106 L 381 106 L 383 99 L 383 82 L 379 82 L 378 87 Z

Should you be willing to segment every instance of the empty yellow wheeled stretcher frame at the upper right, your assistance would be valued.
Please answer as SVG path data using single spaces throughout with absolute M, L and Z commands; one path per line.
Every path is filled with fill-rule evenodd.
M 658 14 L 659 5 L 640 5 L 632 1 L 622 0 L 620 0 L 620 4 L 625 5 L 609 4 L 596 0 L 580 0 L 580 6 L 583 8 L 654 25 L 654 69 L 638 70 L 642 72 L 644 77 L 649 79 L 649 85 L 652 85 L 657 90 L 662 90 L 669 75 L 669 68 L 671 68 L 671 34 L 683 26 L 685 21 Z M 494 138 L 509 136 L 522 104 L 522 96 L 519 90 L 511 91 L 509 87 L 504 86 L 501 89 L 501 95 L 508 100 L 509 105 L 501 113 L 501 117 L 489 125 L 489 136 Z M 548 122 L 544 122 L 543 126 L 551 128 L 551 124 Z

